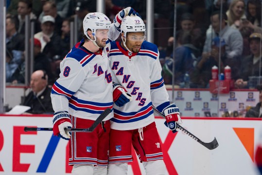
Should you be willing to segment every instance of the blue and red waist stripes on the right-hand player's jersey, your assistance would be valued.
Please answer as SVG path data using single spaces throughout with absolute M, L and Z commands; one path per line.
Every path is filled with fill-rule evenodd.
M 142 120 L 151 114 L 153 114 L 152 102 L 142 107 L 137 112 L 125 113 L 114 109 L 114 118 L 111 118 L 111 120 L 117 123 L 129 123 Z

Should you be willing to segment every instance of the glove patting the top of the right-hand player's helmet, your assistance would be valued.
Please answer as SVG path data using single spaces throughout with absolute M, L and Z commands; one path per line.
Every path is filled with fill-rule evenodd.
M 134 10 L 132 7 L 126 7 L 125 9 L 121 10 L 114 19 L 115 26 L 118 30 L 120 30 L 121 22 L 126 16 L 140 17 L 139 13 L 136 12 L 136 10 Z

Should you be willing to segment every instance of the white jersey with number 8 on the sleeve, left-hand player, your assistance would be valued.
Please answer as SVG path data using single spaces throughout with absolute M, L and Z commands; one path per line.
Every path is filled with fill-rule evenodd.
M 111 28 L 109 38 L 117 39 L 119 31 Z M 110 47 L 108 41 L 105 48 L 91 53 L 83 44 L 84 40 L 78 42 L 60 63 L 61 73 L 52 87 L 52 107 L 55 113 L 67 111 L 74 117 L 95 120 L 106 108 L 113 108 Z M 104 121 L 111 117 L 113 112 Z

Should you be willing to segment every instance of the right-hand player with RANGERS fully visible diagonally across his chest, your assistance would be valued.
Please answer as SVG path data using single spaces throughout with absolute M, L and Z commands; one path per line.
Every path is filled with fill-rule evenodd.
M 132 162 L 132 145 L 147 175 L 164 175 L 166 167 L 155 124 L 152 105 L 166 116 L 166 124 L 176 132 L 181 124 L 179 110 L 170 104 L 157 46 L 145 41 L 145 24 L 139 17 L 126 17 L 121 25 L 122 42 L 112 41 L 109 52 L 114 83 L 124 87 L 133 100 L 114 105 L 110 119 L 108 175 L 127 175 Z

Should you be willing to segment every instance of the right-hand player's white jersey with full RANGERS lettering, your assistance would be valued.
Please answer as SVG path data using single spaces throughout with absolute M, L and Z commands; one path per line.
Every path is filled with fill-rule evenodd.
M 122 107 L 114 105 L 111 128 L 138 129 L 152 123 L 153 105 L 159 111 L 170 104 L 164 80 L 161 77 L 159 52 L 153 43 L 144 41 L 139 53 L 129 53 L 120 42 L 110 42 L 110 68 L 113 82 L 122 85 L 133 101 Z

